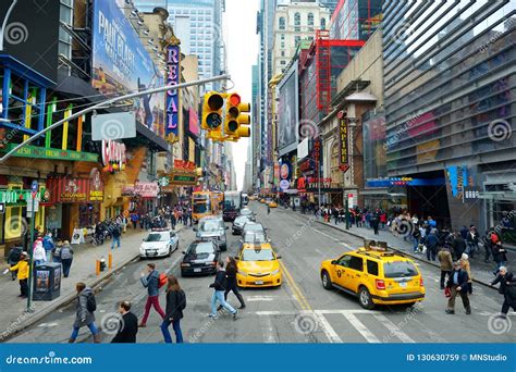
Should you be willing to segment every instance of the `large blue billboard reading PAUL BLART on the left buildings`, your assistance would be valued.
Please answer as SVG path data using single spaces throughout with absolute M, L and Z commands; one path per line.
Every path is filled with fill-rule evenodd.
M 163 76 L 114 1 L 94 0 L 91 84 L 107 96 L 163 86 Z M 164 137 L 164 94 L 134 100 L 136 120 Z

